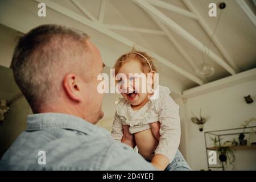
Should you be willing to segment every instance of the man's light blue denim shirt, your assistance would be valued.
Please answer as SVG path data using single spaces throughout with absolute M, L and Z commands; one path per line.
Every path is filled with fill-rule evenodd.
M 28 115 L 27 130 L 3 155 L 0 169 L 155 170 L 109 131 L 59 113 Z

